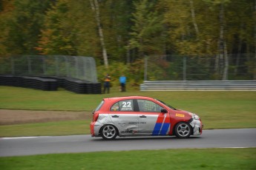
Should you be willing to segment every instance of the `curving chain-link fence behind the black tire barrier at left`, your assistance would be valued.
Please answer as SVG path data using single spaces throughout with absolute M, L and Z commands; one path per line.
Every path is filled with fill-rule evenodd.
M 56 76 L 97 82 L 94 58 L 66 55 L 13 55 L 0 58 L 1 75 Z

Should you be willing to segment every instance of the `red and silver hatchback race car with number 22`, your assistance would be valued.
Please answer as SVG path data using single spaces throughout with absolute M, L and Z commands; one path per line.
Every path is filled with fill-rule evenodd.
M 174 109 L 154 98 L 129 96 L 104 98 L 93 112 L 91 136 L 113 140 L 118 135 L 187 138 L 201 135 L 203 124 L 191 112 Z

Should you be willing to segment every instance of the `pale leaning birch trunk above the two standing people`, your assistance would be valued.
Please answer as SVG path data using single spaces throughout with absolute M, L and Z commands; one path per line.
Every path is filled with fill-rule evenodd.
M 99 3 L 98 3 L 98 0 L 90 0 L 90 2 L 91 2 L 91 8 L 95 13 L 95 18 L 96 18 L 96 22 L 99 30 L 99 40 L 100 40 L 100 44 L 102 45 L 102 55 L 104 59 L 104 65 L 105 65 L 105 68 L 108 69 L 108 55 L 107 55 L 107 50 L 105 48 L 104 35 L 103 35 L 103 30 L 102 30 L 101 21 L 100 21 Z

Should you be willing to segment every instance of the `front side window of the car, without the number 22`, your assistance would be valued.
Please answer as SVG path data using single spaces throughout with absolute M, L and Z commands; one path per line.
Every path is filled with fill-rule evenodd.
M 161 107 L 157 103 L 148 100 L 137 100 L 140 112 L 161 112 Z

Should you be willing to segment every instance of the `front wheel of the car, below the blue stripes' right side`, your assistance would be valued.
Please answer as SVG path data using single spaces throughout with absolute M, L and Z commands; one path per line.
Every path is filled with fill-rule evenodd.
M 191 132 L 191 126 L 186 122 L 177 123 L 177 126 L 175 126 L 175 135 L 179 138 L 188 138 Z

